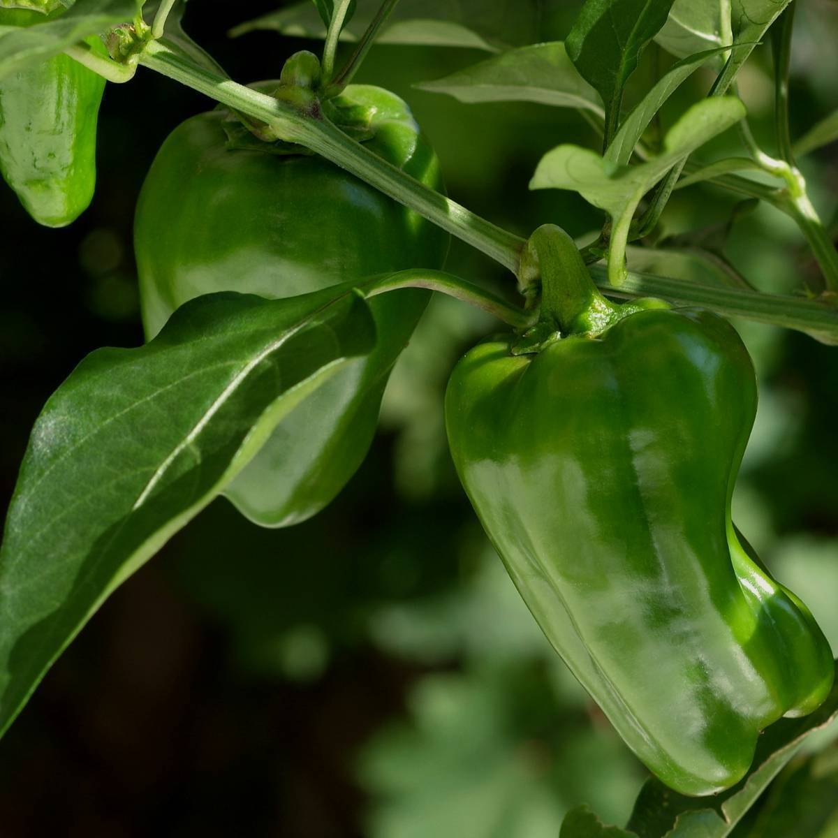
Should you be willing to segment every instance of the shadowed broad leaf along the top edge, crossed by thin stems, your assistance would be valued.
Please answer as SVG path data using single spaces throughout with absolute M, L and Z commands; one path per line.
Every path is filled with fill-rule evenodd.
M 380 0 L 358 0 L 352 22 L 341 38 L 357 40 L 380 6 Z M 429 44 L 501 52 L 546 39 L 541 0 L 401 0 L 376 38 L 378 44 Z M 241 23 L 230 34 L 272 29 L 295 38 L 325 37 L 323 21 L 304 0 L 277 12 Z

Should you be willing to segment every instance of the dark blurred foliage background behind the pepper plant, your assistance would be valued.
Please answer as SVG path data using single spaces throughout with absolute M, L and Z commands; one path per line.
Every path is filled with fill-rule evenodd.
M 287 55 L 313 48 L 266 32 L 225 37 L 276 8 L 269 0 L 190 6 L 190 33 L 237 80 L 276 76 Z M 546 21 L 553 39 L 576 4 L 557 9 Z M 838 4 L 801 5 L 795 136 L 838 107 L 836 36 Z M 574 112 L 467 106 L 411 87 L 485 56 L 381 45 L 358 80 L 411 103 L 461 203 L 520 235 L 546 221 L 591 235 L 600 217 L 577 195 L 527 189 L 549 148 L 594 142 Z M 637 90 L 659 59 L 649 50 Z M 665 116 L 709 80 L 696 74 Z M 740 95 L 770 150 L 767 47 L 742 73 Z M 142 341 L 134 202 L 163 138 L 206 106 L 146 70 L 109 85 L 96 199 L 68 229 L 37 227 L 0 189 L 4 499 L 49 393 L 92 349 Z M 704 156 L 736 142 L 729 134 Z M 838 220 L 835 144 L 803 168 L 821 216 Z M 733 207 L 712 188 L 685 189 L 664 233 L 724 224 Z M 796 230 L 770 208 L 742 214 L 726 252 L 760 288 L 817 284 Z M 703 270 L 642 258 L 661 272 Z M 510 277 L 458 242 L 448 268 L 510 292 Z M 735 517 L 838 652 L 838 350 L 736 325 L 757 365 L 760 406 Z M 564 812 L 581 803 L 603 820 L 626 819 L 644 769 L 536 628 L 448 457 L 448 372 L 496 328 L 435 298 L 392 377 L 370 456 L 328 510 L 290 530 L 259 530 L 218 500 L 111 597 L 0 745 L 4 838 L 556 838 Z M 737 835 L 834 835 L 818 830 L 838 830 L 836 799 L 838 750 L 804 754 Z

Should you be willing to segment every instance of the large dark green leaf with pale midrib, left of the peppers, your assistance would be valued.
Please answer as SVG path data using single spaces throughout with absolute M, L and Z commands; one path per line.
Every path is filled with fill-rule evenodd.
M 35 423 L 0 549 L 0 732 L 105 598 L 374 340 L 345 287 L 213 294 L 76 367 Z

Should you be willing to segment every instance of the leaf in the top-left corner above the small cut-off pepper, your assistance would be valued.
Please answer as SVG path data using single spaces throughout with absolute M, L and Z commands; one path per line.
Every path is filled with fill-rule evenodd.
M 59 54 L 71 44 L 131 21 L 139 0 L 76 0 L 59 18 L 0 34 L 0 79 Z

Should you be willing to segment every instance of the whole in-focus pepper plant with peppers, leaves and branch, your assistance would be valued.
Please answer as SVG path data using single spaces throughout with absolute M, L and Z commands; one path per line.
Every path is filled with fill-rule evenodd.
M 81 360 L 35 423 L 0 553 L 0 732 L 213 499 L 287 527 L 339 494 L 437 292 L 504 329 L 449 380 L 463 488 L 535 621 L 654 775 L 624 830 L 574 810 L 561 835 L 731 834 L 838 712 L 824 634 L 731 513 L 758 385 L 724 318 L 838 344 L 835 230 L 796 162 L 838 125 L 791 136 L 797 2 L 587 0 L 563 41 L 539 42 L 551 0 L 307 0 L 242 30 L 302 31 L 322 51 L 243 85 L 184 33 L 177 0 L 0 0 L 0 171 L 41 224 L 91 201 L 106 83 L 151 71 L 215 103 L 173 127 L 139 195 L 147 343 Z M 416 80 L 463 108 L 577 111 L 596 147 L 556 137 L 530 189 L 576 192 L 600 228 L 574 241 L 544 219 L 524 239 L 448 197 L 406 102 L 353 83 L 376 41 L 489 51 Z M 766 50 L 768 150 L 737 86 Z M 671 114 L 696 74 L 702 96 Z M 741 151 L 714 158 L 730 135 Z M 788 216 L 816 281 L 769 293 L 723 235 L 667 235 L 670 199 L 696 186 L 741 199 L 726 229 L 758 204 Z M 507 293 L 444 272 L 452 236 L 508 272 Z M 684 253 L 706 281 L 635 267 Z

